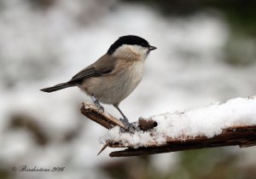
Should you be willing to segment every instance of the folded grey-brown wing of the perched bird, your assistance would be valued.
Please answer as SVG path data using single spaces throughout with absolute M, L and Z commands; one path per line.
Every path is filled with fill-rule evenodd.
M 78 72 L 68 83 L 81 83 L 84 78 L 107 75 L 108 73 L 113 72 L 114 66 L 115 59 L 108 54 L 103 55 L 95 63 Z

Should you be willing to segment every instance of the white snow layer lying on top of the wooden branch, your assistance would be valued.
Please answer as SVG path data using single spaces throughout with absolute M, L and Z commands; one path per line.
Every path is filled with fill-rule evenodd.
M 164 113 L 153 118 L 157 126 L 153 130 L 120 133 L 114 127 L 102 137 L 102 141 L 122 141 L 124 146 L 147 147 L 165 144 L 167 137 L 218 136 L 222 130 L 236 125 L 256 124 L 256 96 L 235 98 L 223 104 L 212 103 L 183 113 Z

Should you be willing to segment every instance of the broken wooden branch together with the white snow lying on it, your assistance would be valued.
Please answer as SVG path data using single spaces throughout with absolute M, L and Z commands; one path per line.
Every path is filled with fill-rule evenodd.
M 94 105 L 83 103 L 81 113 L 108 129 L 105 147 L 127 147 L 110 153 L 111 157 L 169 153 L 207 147 L 256 145 L 256 96 L 235 98 L 223 104 L 139 118 L 134 133 Z M 101 151 L 102 152 L 102 151 Z

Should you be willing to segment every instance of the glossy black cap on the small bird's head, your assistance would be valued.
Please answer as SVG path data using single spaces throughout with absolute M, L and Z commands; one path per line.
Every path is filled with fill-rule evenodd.
M 141 45 L 143 47 L 148 47 L 148 48 L 150 47 L 148 41 L 145 40 L 144 38 L 128 35 L 128 36 L 122 36 L 117 41 L 115 41 L 108 49 L 107 54 L 112 55 L 115 49 L 118 49 L 123 44 L 131 44 L 131 45 L 136 44 L 136 45 Z

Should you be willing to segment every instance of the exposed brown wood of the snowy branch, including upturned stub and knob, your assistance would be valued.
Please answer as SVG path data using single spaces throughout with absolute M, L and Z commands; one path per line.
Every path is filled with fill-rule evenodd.
M 114 118 L 112 115 L 104 112 L 101 113 L 98 108 L 90 103 L 83 103 L 81 113 L 86 117 L 101 124 L 107 129 L 113 128 L 113 126 L 120 126 L 124 128 L 124 125 L 119 121 L 118 118 Z M 139 118 L 136 130 L 151 130 L 157 123 L 153 118 L 145 119 Z M 223 130 L 218 136 L 207 138 L 206 136 L 181 136 L 179 138 L 167 138 L 166 144 L 157 145 L 155 143 L 148 144 L 147 147 L 133 148 L 128 146 L 127 149 L 121 151 L 115 151 L 109 154 L 110 157 L 129 157 L 139 156 L 154 153 L 170 153 L 175 151 L 184 151 L 208 147 L 224 147 L 224 146 L 240 146 L 240 147 L 251 147 L 256 145 L 256 125 L 240 125 L 233 126 Z M 108 141 L 102 148 L 106 147 L 127 147 L 122 144 L 122 141 Z M 102 151 L 101 151 L 102 152 Z

